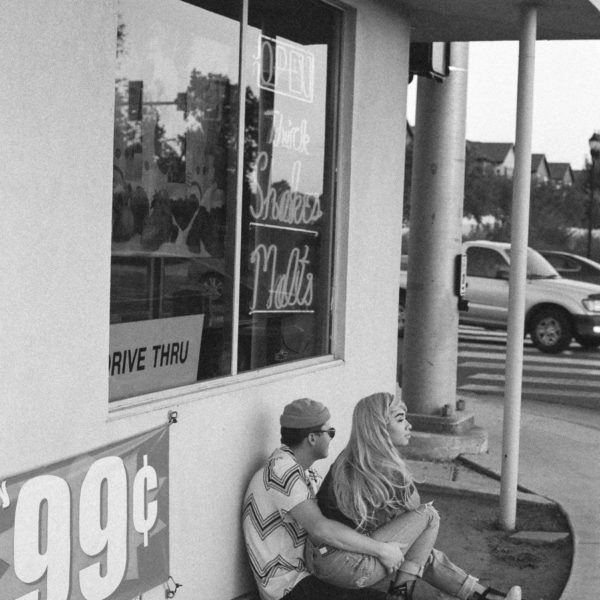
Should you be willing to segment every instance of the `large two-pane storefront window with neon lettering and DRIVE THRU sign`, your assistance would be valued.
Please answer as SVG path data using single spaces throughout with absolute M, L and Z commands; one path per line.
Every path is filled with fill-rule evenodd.
M 247 3 L 118 4 L 111 401 L 329 352 L 339 11 Z

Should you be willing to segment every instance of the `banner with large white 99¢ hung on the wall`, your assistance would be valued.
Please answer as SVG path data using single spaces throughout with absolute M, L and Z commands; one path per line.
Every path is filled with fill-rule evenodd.
M 169 576 L 169 427 L 0 473 L 2 600 L 131 600 Z

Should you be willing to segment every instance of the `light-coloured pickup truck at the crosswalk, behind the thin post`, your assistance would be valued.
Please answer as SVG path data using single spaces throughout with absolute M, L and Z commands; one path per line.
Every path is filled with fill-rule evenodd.
M 510 244 L 466 242 L 468 310 L 459 321 L 486 329 L 506 329 Z M 407 271 L 400 272 L 398 330 L 403 332 Z M 584 347 L 600 346 L 600 285 L 561 277 L 532 248 L 527 250 L 525 333 L 542 352 L 565 350 L 571 340 Z

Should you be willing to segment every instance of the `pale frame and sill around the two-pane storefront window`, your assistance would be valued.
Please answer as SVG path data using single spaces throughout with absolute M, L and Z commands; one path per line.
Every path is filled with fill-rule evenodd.
M 246 89 L 247 61 L 251 60 L 245 51 L 248 35 L 248 9 L 251 0 L 242 0 L 242 14 L 240 15 L 239 60 L 238 60 L 238 85 Z M 328 77 L 331 97 L 328 98 L 327 111 L 331 111 L 333 118 L 326 123 L 326 140 L 329 140 L 325 150 L 325 176 L 324 191 L 328 191 L 331 202 L 331 253 L 330 281 L 328 289 L 329 311 L 329 352 L 319 356 L 302 358 L 295 361 L 268 365 L 255 370 L 238 372 L 239 352 L 239 308 L 240 308 L 240 279 L 241 279 L 241 235 L 242 235 L 242 183 L 244 176 L 244 114 L 245 95 L 238 96 L 238 152 L 236 174 L 236 209 L 234 224 L 234 270 L 233 270 L 233 315 L 232 315 L 232 346 L 230 373 L 210 379 L 196 381 L 192 384 L 157 390 L 117 401 L 108 402 L 110 419 L 129 416 L 134 412 L 147 412 L 161 410 L 171 405 L 174 398 L 177 403 L 187 403 L 196 400 L 199 396 L 218 395 L 226 389 L 234 392 L 236 389 L 247 388 L 248 385 L 263 384 L 266 378 L 279 379 L 289 372 L 306 374 L 321 371 L 327 368 L 340 367 L 343 364 L 345 347 L 345 298 L 346 298 L 346 273 L 348 270 L 348 242 L 349 242 L 349 215 L 348 198 L 350 197 L 350 165 L 352 146 L 352 111 L 354 87 L 354 51 L 356 32 L 356 9 L 349 7 L 337 0 L 318 0 L 323 5 L 339 10 L 340 25 L 337 31 L 337 56 L 331 56 L 332 66 Z M 193 2 L 190 2 L 193 4 Z M 342 199 L 344 199 L 342 201 Z M 110 262 L 111 256 L 108 260 Z M 107 382 L 108 384 L 108 382 Z M 107 394 L 108 396 L 108 394 Z

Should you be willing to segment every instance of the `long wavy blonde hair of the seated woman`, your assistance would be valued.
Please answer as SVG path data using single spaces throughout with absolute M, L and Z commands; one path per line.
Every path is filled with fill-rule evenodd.
M 399 511 L 414 510 L 413 477 L 392 444 L 388 424 L 406 406 L 387 392 L 362 398 L 352 414 L 348 445 L 331 467 L 338 508 L 360 529 L 381 524 Z

